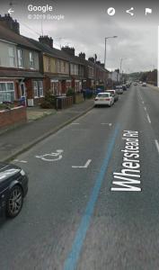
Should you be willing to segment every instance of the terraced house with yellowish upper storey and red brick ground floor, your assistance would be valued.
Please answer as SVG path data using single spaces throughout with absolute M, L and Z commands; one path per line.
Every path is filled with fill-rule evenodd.
M 49 36 L 40 36 L 39 41 L 28 40 L 40 49 L 40 72 L 44 76 L 45 91 L 50 90 L 55 95 L 66 94 L 71 87 L 71 77 L 65 52 L 53 48 L 53 40 Z

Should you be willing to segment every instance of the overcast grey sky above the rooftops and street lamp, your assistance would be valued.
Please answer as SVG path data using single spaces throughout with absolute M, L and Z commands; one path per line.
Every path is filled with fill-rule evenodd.
M 10 1 L 8 1 L 9 3 Z M 85 4 L 86 2 L 86 4 Z M 6 13 L 8 4 L 0 4 L 1 14 Z M 86 58 L 93 57 L 104 61 L 104 38 L 117 35 L 118 38 L 107 42 L 106 67 L 110 70 L 119 67 L 126 72 L 150 70 L 157 67 L 157 26 L 159 24 L 159 4 L 137 4 L 134 1 L 41 1 L 31 0 L 13 1 L 13 18 L 21 25 L 22 35 L 38 40 L 39 35 L 47 34 L 54 40 L 54 47 L 75 47 L 75 54 L 83 51 Z M 133 3 L 133 4 L 132 4 Z M 33 20 L 29 19 L 28 4 L 53 6 L 54 12 L 48 14 L 62 14 L 64 20 Z M 109 16 L 107 9 L 112 6 L 116 14 Z M 126 13 L 134 7 L 134 16 Z M 145 15 L 145 8 L 153 9 L 153 14 Z M 158 13 L 158 14 L 157 14 Z M 38 13 L 41 14 L 41 13 Z M 42 23 L 41 23 L 42 22 Z

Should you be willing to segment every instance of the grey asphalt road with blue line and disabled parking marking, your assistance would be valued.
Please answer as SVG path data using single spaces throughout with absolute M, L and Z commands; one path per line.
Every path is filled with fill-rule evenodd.
M 132 85 L 16 157 L 29 193 L 1 221 L 1 270 L 159 269 L 158 104 L 159 92 Z

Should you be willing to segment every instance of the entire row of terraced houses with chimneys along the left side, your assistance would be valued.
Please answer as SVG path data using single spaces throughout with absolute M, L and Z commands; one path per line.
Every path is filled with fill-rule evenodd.
M 56 49 L 47 35 L 39 40 L 20 34 L 19 23 L 10 15 L 0 16 L 0 103 L 26 98 L 26 104 L 39 104 L 47 91 L 66 95 L 69 88 L 106 85 L 108 71 L 96 58 L 75 56 L 75 48 Z

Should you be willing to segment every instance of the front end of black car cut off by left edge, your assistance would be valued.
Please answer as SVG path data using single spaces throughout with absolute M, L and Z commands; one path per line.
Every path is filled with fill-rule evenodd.
M 10 218 L 22 210 L 23 198 L 28 192 L 28 176 L 21 167 L 0 163 L 0 213 Z

